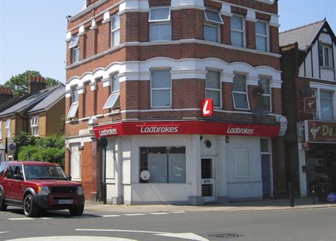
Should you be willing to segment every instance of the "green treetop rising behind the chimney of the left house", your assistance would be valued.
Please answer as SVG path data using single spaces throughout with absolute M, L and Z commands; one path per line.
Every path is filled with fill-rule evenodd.
M 10 80 L 5 81 L 5 84 L 2 86 L 0 85 L 0 87 L 10 88 L 14 96 L 27 94 L 31 76 L 41 77 L 40 72 L 38 71 L 25 71 L 25 73 L 12 76 Z M 46 88 L 49 88 L 62 83 L 56 79 L 45 77 L 45 84 Z

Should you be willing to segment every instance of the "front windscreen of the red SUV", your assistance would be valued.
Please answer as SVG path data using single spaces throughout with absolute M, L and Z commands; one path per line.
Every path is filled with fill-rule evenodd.
M 25 179 L 67 179 L 60 166 L 26 165 L 24 166 Z

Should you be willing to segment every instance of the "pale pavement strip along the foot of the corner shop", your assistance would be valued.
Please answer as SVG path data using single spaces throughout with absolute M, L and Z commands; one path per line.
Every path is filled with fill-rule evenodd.
M 192 205 L 116 205 L 103 204 L 102 202 L 86 202 L 85 210 L 92 212 L 113 212 L 113 213 L 154 213 L 154 212 L 233 212 L 233 211 L 265 211 L 265 210 L 294 210 L 336 207 L 336 203 L 319 202 L 315 197 L 304 197 L 294 199 L 293 207 L 289 199 L 263 199 L 259 201 L 244 201 L 227 204 L 206 204 L 204 206 Z

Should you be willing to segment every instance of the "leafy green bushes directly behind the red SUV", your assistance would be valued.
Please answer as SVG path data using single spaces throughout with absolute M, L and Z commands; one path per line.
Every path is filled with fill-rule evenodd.
M 64 167 L 64 136 L 47 136 L 40 138 L 21 132 L 15 136 L 18 160 L 53 162 Z

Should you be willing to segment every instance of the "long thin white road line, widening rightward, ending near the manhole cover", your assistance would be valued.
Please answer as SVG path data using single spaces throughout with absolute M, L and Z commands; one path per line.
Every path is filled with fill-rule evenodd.
M 141 231 L 141 230 L 119 230 L 119 229 L 75 229 L 76 231 L 106 231 L 106 232 L 125 232 L 125 233 L 152 233 L 153 235 L 166 236 L 171 238 L 183 238 L 195 241 L 209 241 L 206 238 L 197 236 L 195 233 L 165 233 L 156 231 Z

